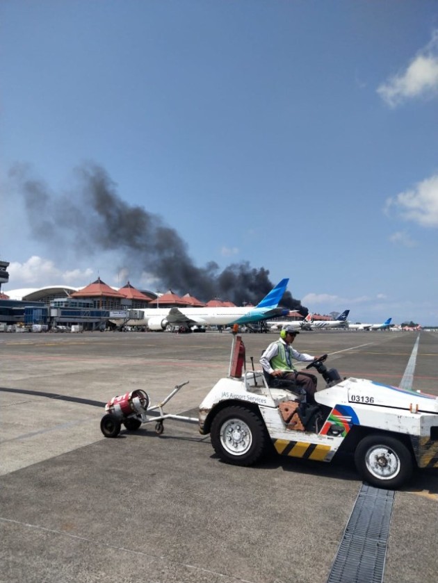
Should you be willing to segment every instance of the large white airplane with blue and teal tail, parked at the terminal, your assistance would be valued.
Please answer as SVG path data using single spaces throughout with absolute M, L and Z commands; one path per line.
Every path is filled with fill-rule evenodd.
M 289 279 L 282 279 L 263 297 L 255 307 L 209 307 L 209 308 L 152 308 L 143 311 L 140 320 L 129 320 L 131 326 L 147 326 L 149 330 L 165 330 L 168 325 L 179 325 L 186 329 L 192 326 L 224 326 L 259 322 L 267 318 L 286 315 L 289 309 L 278 307 Z

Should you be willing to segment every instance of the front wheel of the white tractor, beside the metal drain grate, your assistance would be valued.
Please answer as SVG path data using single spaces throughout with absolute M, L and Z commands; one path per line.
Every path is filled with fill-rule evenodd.
M 377 488 L 395 490 L 412 475 L 411 452 L 397 438 L 389 435 L 368 435 L 359 442 L 355 464 L 362 478 Z

